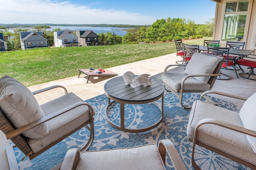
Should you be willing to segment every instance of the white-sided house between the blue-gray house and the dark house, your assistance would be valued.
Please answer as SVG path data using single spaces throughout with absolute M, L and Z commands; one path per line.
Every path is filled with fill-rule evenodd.
M 78 45 L 78 36 L 72 30 L 54 31 L 55 47 L 72 47 Z

